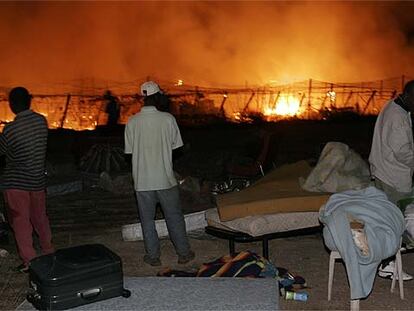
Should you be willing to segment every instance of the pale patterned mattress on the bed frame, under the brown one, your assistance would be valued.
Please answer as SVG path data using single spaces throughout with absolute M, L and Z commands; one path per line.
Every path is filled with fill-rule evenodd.
M 277 213 L 221 221 L 217 209 L 212 208 L 206 211 L 206 220 L 207 224 L 212 227 L 261 236 L 317 227 L 319 226 L 319 212 Z

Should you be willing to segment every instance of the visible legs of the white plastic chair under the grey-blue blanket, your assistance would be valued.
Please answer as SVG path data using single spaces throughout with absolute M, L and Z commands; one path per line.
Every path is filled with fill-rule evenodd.
M 331 300 L 333 275 L 334 275 L 334 270 L 335 270 L 335 260 L 337 259 L 342 259 L 339 252 L 331 251 L 331 255 L 329 256 L 328 301 Z M 404 299 L 401 249 L 398 249 L 397 253 L 395 254 L 395 265 L 394 265 L 393 278 L 391 282 L 391 293 L 394 292 L 395 281 L 397 279 L 397 276 L 398 276 L 398 286 L 400 289 L 400 298 Z M 357 311 L 357 310 L 359 310 L 359 299 L 353 299 L 351 300 L 351 311 Z

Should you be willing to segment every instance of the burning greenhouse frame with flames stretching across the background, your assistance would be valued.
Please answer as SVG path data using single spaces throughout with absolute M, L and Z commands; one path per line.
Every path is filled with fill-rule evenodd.
M 245 88 L 207 88 L 164 81 L 170 111 L 183 121 L 211 118 L 230 122 L 250 122 L 252 116 L 263 121 L 282 119 L 324 119 L 335 113 L 377 114 L 382 105 L 401 91 L 406 76 L 360 83 L 330 83 L 316 80 L 285 85 L 268 84 Z M 132 83 L 131 83 L 132 84 Z M 115 95 L 120 105 L 119 124 L 139 111 L 142 98 L 126 84 L 118 85 Z M 107 123 L 106 100 L 102 88 L 78 94 L 34 94 L 32 107 L 47 117 L 50 128 L 92 130 Z M 99 94 L 101 92 L 101 94 Z M 0 120 L 7 123 L 13 114 L 0 97 Z M 204 121 L 203 121 L 204 120 Z

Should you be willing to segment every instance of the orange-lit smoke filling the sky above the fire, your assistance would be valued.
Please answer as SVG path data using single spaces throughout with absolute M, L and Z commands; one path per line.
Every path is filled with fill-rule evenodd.
M 0 3 L 0 86 L 378 80 L 414 70 L 411 3 Z

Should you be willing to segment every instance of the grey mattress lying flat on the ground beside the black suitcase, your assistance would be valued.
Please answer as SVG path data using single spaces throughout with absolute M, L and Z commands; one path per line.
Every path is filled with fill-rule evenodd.
M 71 310 L 279 310 L 278 282 L 272 278 L 126 277 L 125 288 L 131 291 L 131 297 L 116 297 Z M 25 301 L 17 310 L 36 309 Z

